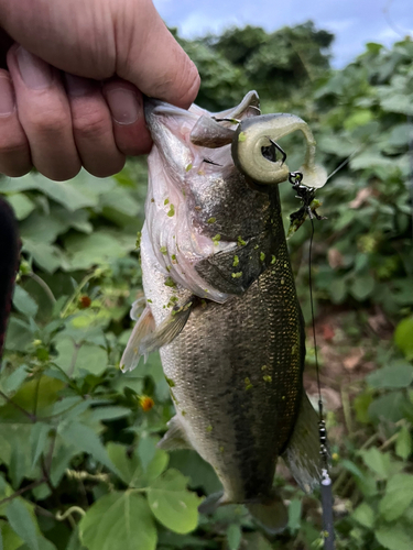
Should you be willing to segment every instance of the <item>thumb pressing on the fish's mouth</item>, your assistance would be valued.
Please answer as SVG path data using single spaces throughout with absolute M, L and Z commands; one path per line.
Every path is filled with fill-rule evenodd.
M 116 8 L 117 2 L 113 4 Z M 195 64 L 166 29 L 151 0 L 129 7 L 134 7 L 132 13 L 123 11 L 113 18 L 119 36 L 117 74 L 146 96 L 189 107 L 200 84 Z

